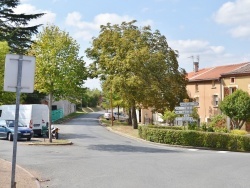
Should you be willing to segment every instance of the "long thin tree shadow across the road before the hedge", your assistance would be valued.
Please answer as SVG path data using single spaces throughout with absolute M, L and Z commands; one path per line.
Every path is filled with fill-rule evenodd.
M 137 152 L 137 153 L 177 153 L 180 151 L 158 149 L 151 147 L 130 146 L 130 145 L 90 145 L 90 150 L 109 151 L 109 152 Z

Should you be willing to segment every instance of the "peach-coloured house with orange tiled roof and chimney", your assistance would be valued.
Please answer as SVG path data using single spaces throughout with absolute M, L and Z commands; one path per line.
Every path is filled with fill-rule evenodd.
M 194 71 L 187 75 L 189 80 L 187 92 L 190 98 L 199 103 L 197 108 L 201 122 L 209 122 L 212 116 L 221 114 L 218 104 L 226 95 L 231 94 L 237 88 L 246 90 L 245 87 L 250 87 L 250 82 L 244 85 L 246 78 L 242 77 L 243 74 L 240 71 L 246 66 L 250 66 L 250 63 L 199 69 L 199 63 L 194 62 Z M 236 75 L 239 78 L 236 79 Z M 250 76 L 248 77 L 250 79 Z

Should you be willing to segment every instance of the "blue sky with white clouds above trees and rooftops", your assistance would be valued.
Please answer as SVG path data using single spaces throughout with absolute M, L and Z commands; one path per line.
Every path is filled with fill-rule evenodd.
M 54 24 L 85 50 L 97 37 L 100 25 L 137 20 L 136 25 L 159 30 L 169 46 L 179 52 L 178 62 L 187 72 L 199 68 L 250 62 L 250 0 L 20 0 L 16 13 L 46 13 L 30 22 Z M 40 28 L 42 30 L 42 28 Z M 99 80 L 86 87 L 100 89 Z

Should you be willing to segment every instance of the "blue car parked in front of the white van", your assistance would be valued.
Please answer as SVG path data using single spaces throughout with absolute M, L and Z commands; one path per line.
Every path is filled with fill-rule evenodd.
M 15 120 L 0 120 L 0 138 L 13 141 L 14 137 Z M 26 127 L 21 122 L 18 122 L 17 138 L 26 138 L 28 141 L 33 137 L 34 132 L 32 129 Z

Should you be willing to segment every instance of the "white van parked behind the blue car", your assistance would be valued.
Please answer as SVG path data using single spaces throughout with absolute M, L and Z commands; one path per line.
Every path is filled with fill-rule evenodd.
M 16 105 L 0 106 L 0 119 L 14 120 Z M 49 123 L 49 107 L 45 104 L 21 104 L 19 106 L 19 121 L 29 128 L 34 134 L 41 135 L 42 126 Z

